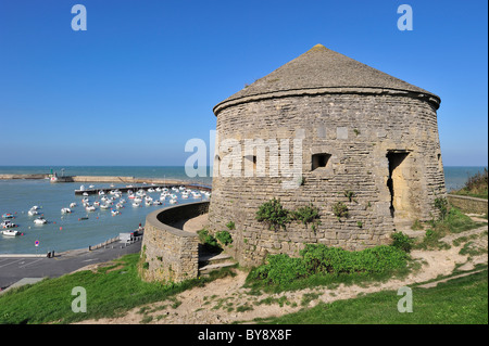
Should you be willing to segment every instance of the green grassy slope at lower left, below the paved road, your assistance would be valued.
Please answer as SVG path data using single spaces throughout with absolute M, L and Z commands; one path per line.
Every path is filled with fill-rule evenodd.
M 139 279 L 139 254 L 115 260 L 98 272 L 79 271 L 57 279 L 45 279 L 0 296 L 0 324 L 71 323 L 85 319 L 117 317 L 125 311 L 171 297 L 212 279 L 195 279 L 179 284 L 162 285 Z M 72 311 L 75 286 L 87 293 L 87 312 Z

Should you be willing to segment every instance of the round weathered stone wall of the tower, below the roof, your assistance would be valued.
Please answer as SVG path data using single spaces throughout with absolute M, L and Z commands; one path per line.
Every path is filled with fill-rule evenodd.
M 235 222 L 234 255 L 241 265 L 260 264 L 267 253 L 297 255 L 304 243 L 348 249 L 388 243 L 396 228 L 436 215 L 434 201 L 446 194 L 436 108 L 423 99 L 328 93 L 249 101 L 218 113 L 217 133 L 217 144 L 235 139 L 241 149 L 244 139 L 289 139 L 290 149 L 292 139 L 302 139 L 304 183 L 292 190 L 283 188 L 292 179 L 283 171 L 271 177 L 269 164 L 275 162 L 268 156 L 264 177 L 244 177 L 249 158 L 243 152 L 216 150 L 210 225 L 220 231 Z M 402 177 L 394 182 L 394 217 L 387 184 L 389 152 L 406 153 L 392 174 Z M 312 170 L 312 155 L 318 153 L 330 155 L 329 159 L 326 167 Z M 231 177 L 223 177 L 216 167 L 233 158 L 241 158 L 241 165 L 231 169 Z M 350 202 L 346 191 L 354 192 L 354 200 Z M 255 220 L 255 213 L 272 197 L 290 210 L 312 203 L 319 209 L 321 225 L 315 232 L 297 222 L 287 230 L 269 231 Z M 338 220 L 333 214 L 337 202 L 348 206 L 348 218 Z

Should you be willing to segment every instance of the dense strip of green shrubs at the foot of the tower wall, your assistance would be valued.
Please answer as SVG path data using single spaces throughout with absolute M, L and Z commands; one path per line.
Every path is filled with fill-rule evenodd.
M 300 255 L 299 258 L 285 254 L 268 255 L 264 265 L 251 270 L 247 282 L 280 291 L 290 289 L 291 284 L 296 284 L 293 281 L 303 281 L 310 285 L 311 278 L 392 274 L 405 269 L 409 258 L 405 252 L 387 245 L 349 252 L 323 244 L 306 244 Z

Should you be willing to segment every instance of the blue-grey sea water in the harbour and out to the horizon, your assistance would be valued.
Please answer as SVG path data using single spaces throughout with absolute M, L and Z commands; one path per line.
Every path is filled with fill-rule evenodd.
M 0 174 L 47 174 L 50 169 L 60 174 L 64 168 L 65 175 L 71 176 L 124 176 L 136 178 L 167 178 L 210 185 L 212 178 L 189 178 L 184 167 L 1 167 Z M 444 167 L 447 190 L 460 189 L 469 176 L 482 171 L 484 167 Z M 85 183 L 88 188 L 90 183 Z M 109 189 L 111 183 L 93 183 L 96 188 Z M 110 209 L 100 209 L 87 213 L 82 204 L 82 195 L 75 195 L 80 183 L 50 183 L 48 180 L 0 180 L 0 215 L 11 213 L 15 215 L 12 221 L 18 225 L 15 230 L 22 236 L 0 235 L 0 254 L 47 254 L 50 251 L 64 252 L 76 248 L 88 248 L 102 243 L 122 232 L 130 232 L 145 225 L 146 216 L 165 206 L 168 200 L 162 201 L 164 205 L 134 207 L 133 201 L 123 193 L 126 200 L 125 207 L 120 209 L 121 215 L 112 216 Z M 114 183 L 114 189 L 124 187 Z M 153 200 L 160 198 L 160 192 L 149 193 Z M 179 195 L 179 194 L 178 194 Z M 110 196 L 110 195 L 109 195 Z M 202 195 L 204 196 L 204 195 Z M 100 201 L 100 196 L 90 195 L 90 204 Z M 205 198 L 204 198 L 205 200 Z M 178 203 L 189 203 L 179 195 Z M 61 214 L 61 208 L 70 207 L 75 202 L 76 207 L 72 214 Z M 28 216 L 33 206 L 39 206 L 39 215 L 48 220 L 47 225 L 35 225 L 38 216 Z M 115 203 L 113 208 L 115 208 Z M 88 217 L 83 220 L 82 218 Z M 35 246 L 36 241 L 38 246 Z

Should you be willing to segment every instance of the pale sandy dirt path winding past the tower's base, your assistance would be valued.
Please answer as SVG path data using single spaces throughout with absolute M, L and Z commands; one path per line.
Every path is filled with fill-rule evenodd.
M 486 234 L 484 235 L 484 232 Z M 319 302 L 331 303 L 338 299 L 354 298 L 384 290 L 399 290 L 416 283 L 449 275 L 456 266 L 471 270 L 475 262 L 487 264 L 487 226 L 456 234 L 467 236 L 478 234 L 477 244 L 486 246 L 481 256 L 461 255 L 465 244 L 444 251 L 413 251 L 411 257 L 422 264 L 422 268 L 403 279 L 389 280 L 385 283 L 367 285 L 340 284 L 335 289 L 314 287 L 280 294 L 251 295 L 243 289 L 247 272 L 237 270 L 236 277 L 215 280 L 203 287 L 195 287 L 176 295 L 173 299 L 153 303 L 128 311 L 115 319 L 87 320 L 82 323 L 100 324 L 216 324 L 233 322 L 252 322 L 255 318 L 281 316 L 298 311 L 303 306 L 312 307 Z M 446 239 L 451 243 L 454 239 Z M 474 239 L 474 236 L 473 236 Z M 471 265 L 471 266 L 468 266 Z M 432 285 L 436 283 L 431 283 Z M 142 309 L 141 309 L 142 308 Z M 141 312 L 143 311 L 143 312 Z

